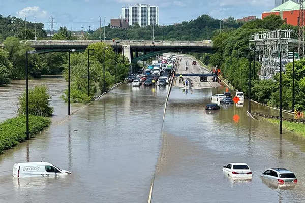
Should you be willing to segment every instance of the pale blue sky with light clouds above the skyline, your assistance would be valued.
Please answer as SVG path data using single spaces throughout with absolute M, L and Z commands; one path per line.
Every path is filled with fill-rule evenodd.
M 242 18 L 270 11 L 275 0 L 0 0 L 0 15 L 25 18 L 27 21 L 45 24 L 50 28 L 50 17 L 54 18 L 54 29 L 66 26 L 69 30 L 92 30 L 100 26 L 106 18 L 119 18 L 122 6 L 137 3 L 159 6 L 159 24 L 169 25 L 196 19 L 203 14 L 223 19 L 229 16 Z M 102 22 L 103 26 L 104 22 Z

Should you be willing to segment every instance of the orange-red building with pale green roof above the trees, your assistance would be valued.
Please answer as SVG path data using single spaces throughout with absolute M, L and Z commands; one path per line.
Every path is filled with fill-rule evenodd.
M 295 1 L 288 0 L 271 11 L 262 13 L 262 19 L 270 15 L 278 15 L 288 25 L 298 26 L 300 5 Z

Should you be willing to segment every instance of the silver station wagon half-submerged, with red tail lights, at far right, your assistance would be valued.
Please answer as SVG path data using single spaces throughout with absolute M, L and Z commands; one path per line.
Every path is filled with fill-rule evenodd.
M 294 173 L 286 168 L 269 168 L 260 176 L 262 179 L 268 179 L 275 184 L 297 183 Z

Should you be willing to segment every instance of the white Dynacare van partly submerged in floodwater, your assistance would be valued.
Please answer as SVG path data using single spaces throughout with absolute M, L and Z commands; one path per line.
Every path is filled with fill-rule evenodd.
M 15 163 L 13 166 L 13 177 L 34 177 L 34 176 L 56 176 L 71 174 L 66 170 L 61 170 L 57 166 L 48 162 L 28 162 Z

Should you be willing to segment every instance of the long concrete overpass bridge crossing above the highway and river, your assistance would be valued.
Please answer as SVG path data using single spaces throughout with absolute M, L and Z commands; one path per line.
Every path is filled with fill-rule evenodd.
M 25 42 L 25 41 L 21 41 Z M 27 43 L 37 51 L 43 53 L 68 51 L 70 49 L 85 50 L 88 45 L 100 42 L 99 40 L 27 40 Z M 204 52 L 213 53 L 213 43 L 210 40 L 204 41 L 152 41 L 147 40 L 119 40 L 102 41 L 118 53 L 128 57 L 131 63 L 139 60 L 168 52 Z

